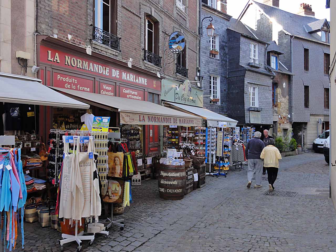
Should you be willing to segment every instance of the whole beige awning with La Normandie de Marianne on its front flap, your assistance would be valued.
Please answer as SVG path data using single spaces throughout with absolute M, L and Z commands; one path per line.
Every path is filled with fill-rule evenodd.
M 120 123 L 122 124 L 180 126 L 202 125 L 202 118 L 198 116 L 173 110 L 149 101 L 133 100 L 65 88 L 54 87 L 54 89 L 97 107 L 105 109 L 108 107 L 118 109 L 120 112 Z

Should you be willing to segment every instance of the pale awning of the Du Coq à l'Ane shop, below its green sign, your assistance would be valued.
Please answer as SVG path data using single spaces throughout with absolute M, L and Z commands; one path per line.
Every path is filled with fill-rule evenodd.
M 236 127 L 238 123 L 238 121 L 234 119 L 219 115 L 215 112 L 212 112 L 204 108 L 185 105 L 185 104 L 176 103 L 176 102 L 170 102 L 170 101 L 165 101 L 165 102 L 170 104 L 173 108 L 176 108 L 180 111 L 185 111 L 187 113 L 201 116 L 203 119 L 207 120 L 208 127 L 218 127 L 218 124 L 220 122 L 224 122 L 224 125 L 226 123 L 226 127 Z

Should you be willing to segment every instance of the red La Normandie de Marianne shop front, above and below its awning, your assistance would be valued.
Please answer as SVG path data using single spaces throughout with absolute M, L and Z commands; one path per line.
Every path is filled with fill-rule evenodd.
M 93 93 L 126 98 L 130 104 L 139 104 L 135 100 L 160 104 L 161 79 L 142 68 L 129 68 L 127 62 L 96 52 L 88 55 L 84 48 L 42 35 L 37 36 L 37 59 L 38 78 L 44 85 L 58 91 L 61 88 L 65 94 L 67 90 L 69 93 L 80 91 L 83 96 Z M 81 98 L 76 97 L 83 100 Z M 44 139 L 48 139 L 52 128 L 80 129 L 88 115 L 89 118 L 91 115 L 110 116 L 110 127 L 120 128 L 131 149 L 140 149 L 140 154 L 149 155 L 160 152 L 159 125 L 121 124 L 118 110 L 101 102 L 86 100 L 86 103 L 91 105 L 90 111 L 41 106 L 40 133 Z

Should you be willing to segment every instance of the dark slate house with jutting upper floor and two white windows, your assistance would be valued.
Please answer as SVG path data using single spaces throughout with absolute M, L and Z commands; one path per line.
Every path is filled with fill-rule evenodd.
M 273 124 L 272 78 L 267 67 L 266 47 L 240 20 L 231 18 L 227 29 L 228 44 L 228 116 L 240 126 L 269 129 Z

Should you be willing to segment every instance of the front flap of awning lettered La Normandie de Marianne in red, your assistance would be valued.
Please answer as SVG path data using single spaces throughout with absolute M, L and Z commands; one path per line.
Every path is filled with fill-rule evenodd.
M 202 126 L 201 118 L 174 117 L 120 111 L 121 124 Z

